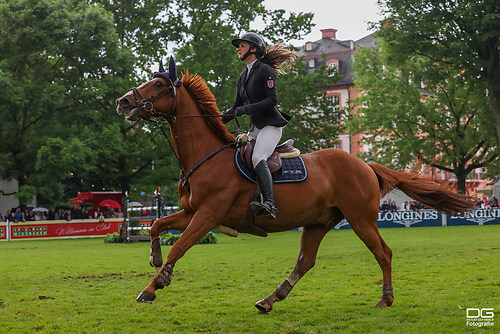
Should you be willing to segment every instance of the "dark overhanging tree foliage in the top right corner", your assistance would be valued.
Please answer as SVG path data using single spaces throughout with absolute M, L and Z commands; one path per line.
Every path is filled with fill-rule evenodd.
M 428 65 L 447 64 L 469 82 L 483 82 L 476 88 L 488 96 L 500 143 L 499 2 L 379 0 L 379 5 L 388 17 L 380 37 L 394 60 L 418 55 Z

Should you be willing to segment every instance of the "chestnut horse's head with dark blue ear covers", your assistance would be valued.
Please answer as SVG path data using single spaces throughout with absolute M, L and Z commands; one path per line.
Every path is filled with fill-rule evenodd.
M 176 87 L 182 86 L 177 77 L 174 58 L 170 57 L 168 72 L 160 61 L 158 72 L 150 80 L 139 87 L 132 88 L 116 100 L 116 111 L 127 115 L 127 120 L 137 121 L 139 118 L 169 115 L 174 109 Z M 169 94 L 167 94 L 169 93 Z M 172 96 L 171 99 L 166 95 Z

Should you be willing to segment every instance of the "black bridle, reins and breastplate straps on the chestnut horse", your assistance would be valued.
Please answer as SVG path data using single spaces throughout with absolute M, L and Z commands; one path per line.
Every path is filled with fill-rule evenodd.
M 219 115 L 193 115 L 193 116 L 176 116 L 176 115 L 174 115 L 174 111 L 175 111 L 175 97 L 177 95 L 177 92 L 176 92 L 176 89 L 175 89 L 175 85 L 176 85 L 176 83 L 177 83 L 178 80 L 179 79 L 177 79 L 175 82 L 172 82 L 172 80 L 168 79 L 168 86 L 166 87 L 166 89 L 163 89 L 163 90 L 159 91 L 156 94 L 153 94 L 152 96 L 150 96 L 148 98 L 144 98 L 144 96 L 142 95 L 142 93 L 139 90 L 139 88 L 137 88 L 137 87 L 132 88 L 132 92 L 134 93 L 135 108 L 137 109 L 136 113 L 139 113 L 140 111 L 144 110 L 144 111 L 148 112 L 152 117 L 154 117 L 154 116 L 163 116 L 165 118 L 170 118 L 170 121 L 167 121 L 167 122 L 171 126 L 173 126 L 173 130 L 174 130 L 173 131 L 173 136 L 175 138 L 175 144 L 177 146 L 177 150 L 179 150 L 179 135 L 177 133 L 177 118 L 222 117 L 221 114 L 219 114 Z M 160 113 L 160 112 L 156 111 L 156 109 L 154 108 L 153 102 L 156 102 L 160 97 L 162 97 L 163 95 L 165 95 L 167 92 L 170 92 L 170 91 L 172 92 L 172 108 L 170 109 L 170 113 L 169 114 L 165 114 L 165 113 Z M 139 102 L 140 102 L 140 104 L 139 104 Z M 143 118 L 143 119 L 146 120 L 146 121 L 148 121 L 148 122 L 156 123 L 160 127 L 163 135 L 165 136 L 165 139 L 167 140 L 167 142 L 168 142 L 168 144 L 170 146 L 170 149 L 172 150 L 172 152 L 174 152 L 174 155 L 175 155 L 175 157 L 177 159 L 177 163 L 179 164 L 179 168 L 181 170 L 181 174 L 180 174 L 180 177 L 179 177 L 180 180 L 181 180 L 181 185 L 182 185 L 182 187 L 184 187 L 186 189 L 186 191 L 188 193 L 190 192 L 189 177 L 204 162 L 206 162 L 208 159 L 210 159 L 211 157 L 213 157 L 217 153 L 225 150 L 226 148 L 230 148 L 230 147 L 238 148 L 238 147 L 246 145 L 246 142 L 241 142 L 241 141 L 235 141 L 235 142 L 232 142 L 232 143 L 225 144 L 225 145 L 219 147 L 218 149 L 210 152 L 206 156 L 204 156 L 186 174 L 184 172 L 184 168 L 182 167 L 182 163 L 181 163 L 181 160 L 179 158 L 179 155 L 175 151 L 174 145 L 172 145 L 172 142 L 168 138 L 168 135 L 167 135 L 165 129 L 163 128 L 163 122 L 160 122 L 157 119 L 150 119 L 150 118 Z M 236 131 L 239 131 L 240 130 L 240 123 L 238 122 L 238 117 L 235 117 L 235 121 L 236 121 L 236 124 L 238 125 L 238 130 L 236 130 Z

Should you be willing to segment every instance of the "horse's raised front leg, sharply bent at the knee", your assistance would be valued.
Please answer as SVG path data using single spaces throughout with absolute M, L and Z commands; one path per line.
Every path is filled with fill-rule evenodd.
M 163 258 L 161 256 L 160 234 L 166 230 L 184 231 L 189 225 L 191 218 L 193 218 L 193 214 L 191 212 L 181 210 L 168 217 L 163 217 L 155 220 L 155 222 L 151 226 L 151 230 L 149 232 L 151 236 L 149 264 L 156 269 L 156 272 L 159 272 L 161 266 L 163 265 Z

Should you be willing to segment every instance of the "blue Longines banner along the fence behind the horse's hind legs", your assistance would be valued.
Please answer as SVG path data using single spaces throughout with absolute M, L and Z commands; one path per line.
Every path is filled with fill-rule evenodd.
M 450 217 L 435 210 L 379 212 L 377 226 L 418 227 L 500 224 L 500 208 L 476 209 L 464 217 Z M 344 219 L 335 229 L 351 228 Z

